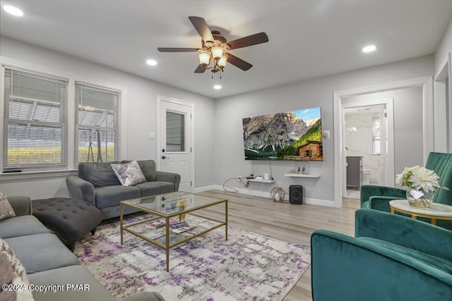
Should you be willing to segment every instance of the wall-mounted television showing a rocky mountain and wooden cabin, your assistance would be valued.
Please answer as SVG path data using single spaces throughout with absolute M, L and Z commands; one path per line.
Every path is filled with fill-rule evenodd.
M 242 119 L 246 160 L 323 161 L 320 107 Z

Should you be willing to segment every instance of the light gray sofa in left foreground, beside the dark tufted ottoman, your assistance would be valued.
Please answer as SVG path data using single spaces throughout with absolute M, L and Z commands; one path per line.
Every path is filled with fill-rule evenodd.
M 86 285 L 89 290 L 57 290 L 56 292 L 32 291 L 36 301 L 79 301 L 79 300 L 117 300 L 97 281 L 88 269 L 81 266 L 78 258 L 68 250 L 56 235 L 32 216 L 32 203 L 29 197 L 8 197 L 16 217 L 0 221 L 0 237 L 16 253 L 25 267 L 30 288 L 44 285 L 52 290 L 56 285 Z M 34 285 L 34 286 L 32 286 Z M 52 286 L 49 286 L 52 285 Z M 0 296 L 1 299 L 1 296 Z M 122 300 L 162 301 L 158 293 L 141 292 Z

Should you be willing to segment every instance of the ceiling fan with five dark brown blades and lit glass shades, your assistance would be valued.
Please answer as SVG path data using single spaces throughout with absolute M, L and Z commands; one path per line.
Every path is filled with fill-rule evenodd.
M 191 24 L 196 31 L 201 35 L 201 48 L 157 48 L 160 52 L 198 52 L 199 65 L 195 69 L 195 73 L 204 73 L 210 69 L 213 74 L 219 71 L 222 72 L 226 66 L 226 62 L 240 68 L 244 71 L 249 70 L 253 65 L 237 56 L 234 56 L 229 51 L 243 47 L 249 47 L 256 44 L 268 42 L 268 37 L 265 32 L 259 32 L 255 35 L 234 39 L 234 41 L 227 41 L 217 30 L 210 30 L 206 20 L 201 17 L 189 17 Z M 220 75 L 221 78 L 221 75 Z

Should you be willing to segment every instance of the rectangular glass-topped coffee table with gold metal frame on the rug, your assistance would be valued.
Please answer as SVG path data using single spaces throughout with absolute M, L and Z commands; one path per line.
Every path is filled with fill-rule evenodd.
M 155 202 L 155 208 L 149 206 L 149 204 L 153 202 L 146 202 L 147 200 L 152 200 Z M 188 200 L 188 202 L 187 202 Z M 145 203 L 143 203 L 145 202 Z M 174 211 L 172 209 L 165 208 L 165 204 L 184 204 L 183 206 L 174 207 Z M 191 213 L 193 211 L 198 211 L 204 208 L 212 207 L 218 204 L 225 204 L 225 220 L 220 221 L 217 219 L 211 219 L 207 216 L 202 216 L 200 214 Z M 143 221 L 138 221 L 136 223 L 129 223 L 124 225 L 124 206 L 131 207 L 133 209 L 138 209 L 148 214 L 153 214 L 153 218 L 145 219 Z M 180 240 L 171 241 L 169 234 L 169 219 L 179 216 L 184 216 L 185 214 L 191 213 L 191 215 L 198 216 L 201 219 L 208 219 L 210 221 L 215 221 L 217 224 L 211 226 L 210 228 L 203 229 L 193 235 L 190 235 L 186 238 L 181 238 Z M 157 219 L 165 219 L 165 244 L 158 242 L 155 239 L 148 238 L 142 233 L 134 231 L 131 229 L 132 226 L 139 225 L 141 223 L 148 223 L 149 221 L 155 221 Z M 166 251 L 166 262 L 167 262 L 167 271 L 169 271 L 169 250 L 172 247 L 176 247 L 177 245 L 181 245 L 184 242 L 192 240 L 193 238 L 197 238 L 204 233 L 208 233 L 213 231 L 216 228 L 220 228 L 221 226 L 225 226 L 225 240 L 227 240 L 227 199 L 219 199 L 215 197 L 206 197 L 204 195 L 193 194 L 189 192 L 172 192 L 163 195 L 153 195 L 151 197 L 139 197 L 137 199 L 128 199 L 121 201 L 119 203 L 119 223 L 121 225 L 121 245 L 124 243 L 124 231 L 127 231 L 133 235 L 136 235 L 138 238 L 146 240 L 147 242 L 156 245 L 157 247 L 161 247 Z

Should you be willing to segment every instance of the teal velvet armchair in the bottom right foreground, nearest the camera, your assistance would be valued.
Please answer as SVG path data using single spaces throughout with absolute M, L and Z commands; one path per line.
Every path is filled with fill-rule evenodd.
M 314 301 L 452 300 L 452 231 L 373 209 L 311 235 Z

